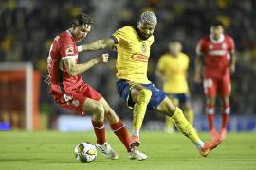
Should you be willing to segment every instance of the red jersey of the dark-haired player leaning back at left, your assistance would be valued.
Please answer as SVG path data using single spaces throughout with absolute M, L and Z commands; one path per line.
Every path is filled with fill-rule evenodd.
M 82 76 L 70 76 L 62 59 L 74 58 L 78 61 L 76 41 L 67 30 L 55 37 L 47 58 L 47 69 L 50 75 L 50 93 L 62 93 L 82 85 Z

